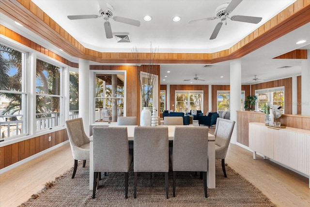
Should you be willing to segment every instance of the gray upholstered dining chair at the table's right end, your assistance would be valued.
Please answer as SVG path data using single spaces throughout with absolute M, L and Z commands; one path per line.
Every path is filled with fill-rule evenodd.
M 232 138 L 233 126 L 235 121 L 223 118 L 217 118 L 217 126 L 215 128 L 215 159 L 222 160 L 222 170 L 224 177 L 227 177 L 225 170 L 225 158 L 229 143 Z

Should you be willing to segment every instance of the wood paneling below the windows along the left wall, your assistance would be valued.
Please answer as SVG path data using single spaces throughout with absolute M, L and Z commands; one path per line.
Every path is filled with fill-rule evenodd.
M 48 137 L 51 141 L 48 142 Z M 43 150 L 68 140 L 67 130 L 62 129 L 22 142 L 0 147 L 0 169 L 29 158 Z

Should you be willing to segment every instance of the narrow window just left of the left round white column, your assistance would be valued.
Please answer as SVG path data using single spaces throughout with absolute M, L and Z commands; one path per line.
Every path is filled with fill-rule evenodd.
M 78 118 L 78 73 L 69 72 L 69 119 Z

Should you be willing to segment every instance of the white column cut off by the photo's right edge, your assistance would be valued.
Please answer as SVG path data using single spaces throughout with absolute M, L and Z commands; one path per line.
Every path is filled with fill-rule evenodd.
M 301 61 L 301 114 L 310 116 L 310 49 L 308 59 Z

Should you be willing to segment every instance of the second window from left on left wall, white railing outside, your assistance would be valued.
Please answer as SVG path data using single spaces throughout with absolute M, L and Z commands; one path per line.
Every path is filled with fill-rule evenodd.
M 36 130 L 62 125 L 62 68 L 36 61 Z

